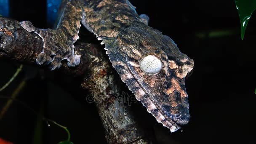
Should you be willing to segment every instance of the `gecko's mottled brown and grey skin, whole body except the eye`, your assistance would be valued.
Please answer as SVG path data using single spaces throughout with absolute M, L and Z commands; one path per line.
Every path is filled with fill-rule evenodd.
M 50 64 L 55 69 L 63 59 L 69 61 L 69 66 L 79 64 L 73 44 L 79 38 L 82 22 L 105 44 L 113 67 L 136 99 L 174 132 L 189 122 L 184 79 L 194 61 L 181 53 L 170 37 L 147 26 L 148 19 L 146 15 L 139 16 L 128 0 L 69 0 L 56 30 L 37 29 L 29 21 L 21 25 L 44 40 L 37 63 Z M 155 75 L 140 69 L 140 61 L 148 55 L 161 60 L 163 67 Z

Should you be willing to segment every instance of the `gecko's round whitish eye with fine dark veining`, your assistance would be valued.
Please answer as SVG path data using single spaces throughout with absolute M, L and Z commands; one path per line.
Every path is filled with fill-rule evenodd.
M 162 69 L 162 62 L 157 56 L 145 56 L 139 63 L 141 70 L 149 75 L 155 75 Z

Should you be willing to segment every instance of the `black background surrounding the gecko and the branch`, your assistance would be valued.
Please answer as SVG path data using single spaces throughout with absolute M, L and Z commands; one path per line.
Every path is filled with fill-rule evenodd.
M 180 51 L 195 61 L 193 74 L 186 81 L 191 121 L 183 132 L 171 133 L 142 104 L 131 106 L 144 130 L 154 132 L 152 141 L 255 144 L 256 16 L 251 17 L 245 39 L 241 40 L 234 0 L 131 0 L 131 3 L 137 13 L 150 17 L 149 26 L 170 36 Z M 10 1 L 10 17 L 47 28 L 50 24 L 46 21 L 45 5 L 44 0 Z M 19 64 L 2 61 L 0 67 L 0 85 L 3 85 Z M 67 126 L 74 144 L 106 143 L 96 107 L 86 103 L 86 92 L 80 91 L 79 85 L 72 85 L 79 79 L 64 77 L 58 71 L 25 67 L 0 94 L 10 96 L 24 78 L 27 83 L 18 99 Z M 123 87 L 123 91 L 128 91 Z M 5 102 L 6 99 L 0 99 L 0 107 Z M 18 103 L 0 121 L 0 137 L 16 144 L 32 144 L 34 135 L 40 135 L 37 127 L 43 130 L 42 144 L 56 144 L 67 138 L 63 129 L 40 123 L 40 118 Z

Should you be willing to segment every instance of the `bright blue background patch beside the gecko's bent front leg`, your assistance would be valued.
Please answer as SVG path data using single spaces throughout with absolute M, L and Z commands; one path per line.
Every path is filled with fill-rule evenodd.
M 57 19 L 57 12 L 61 0 L 47 0 L 47 22 L 53 24 Z

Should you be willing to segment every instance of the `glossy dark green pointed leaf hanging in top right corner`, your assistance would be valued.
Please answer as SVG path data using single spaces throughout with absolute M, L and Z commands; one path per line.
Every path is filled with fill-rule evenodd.
M 251 14 L 256 9 L 256 0 L 235 0 L 237 11 L 241 23 L 241 38 L 245 36 L 245 29 L 251 18 Z

